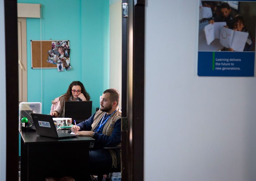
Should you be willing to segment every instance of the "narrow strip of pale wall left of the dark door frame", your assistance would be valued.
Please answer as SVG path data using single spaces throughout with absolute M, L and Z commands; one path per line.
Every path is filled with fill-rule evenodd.
M 4 38 L 4 2 L 0 0 L 0 180 L 5 180 L 6 165 L 6 101 L 5 101 L 5 38 Z

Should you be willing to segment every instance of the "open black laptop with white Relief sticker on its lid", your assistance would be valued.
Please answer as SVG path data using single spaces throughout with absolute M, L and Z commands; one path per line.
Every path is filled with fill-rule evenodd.
M 74 138 L 77 136 L 70 133 L 57 132 L 51 115 L 31 113 L 31 116 L 35 125 L 35 130 L 37 131 L 37 134 L 41 136 L 57 139 Z

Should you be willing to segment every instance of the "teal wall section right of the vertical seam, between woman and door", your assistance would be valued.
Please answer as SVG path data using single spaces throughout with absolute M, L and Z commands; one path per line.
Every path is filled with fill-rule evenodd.
M 109 1 L 82 0 L 81 7 L 81 79 L 95 112 L 99 96 L 109 88 Z

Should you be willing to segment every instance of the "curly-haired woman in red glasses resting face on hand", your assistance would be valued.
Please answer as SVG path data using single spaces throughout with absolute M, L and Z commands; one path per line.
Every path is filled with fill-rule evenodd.
M 51 111 L 51 115 L 64 116 L 66 101 L 90 101 L 90 95 L 86 92 L 84 85 L 80 81 L 72 82 L 69 85 L 67 92 L 59 96 L 58 105 L 53 112 Z

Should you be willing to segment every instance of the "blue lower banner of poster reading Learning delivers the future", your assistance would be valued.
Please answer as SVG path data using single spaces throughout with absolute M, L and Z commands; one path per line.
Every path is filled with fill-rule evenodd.
M 254 76 L 255 52 L 198 52 L 199 76 Z

